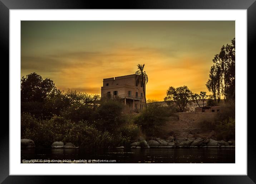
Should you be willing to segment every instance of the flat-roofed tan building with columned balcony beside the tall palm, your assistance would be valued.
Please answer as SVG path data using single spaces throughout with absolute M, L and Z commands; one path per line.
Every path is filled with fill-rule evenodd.
M 146 91 L 146 84 L 144 89 Z M 142 84 L 136 84 L 135 74 L 103 79 L 101 96 L 106 95 L 110 95 L 111 98 L 118 96 L 132 111 L 139 111 L 145 107 Z

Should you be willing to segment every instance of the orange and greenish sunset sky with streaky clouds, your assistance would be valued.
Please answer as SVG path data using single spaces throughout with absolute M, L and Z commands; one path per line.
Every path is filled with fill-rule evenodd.
M 147 99 L 163 101 L 169 86 L 210 94 L 212 59 L 234 37 L 235 21 L 21 21 L 21 77 L 100 94 L 103 78 L 145 63 Z

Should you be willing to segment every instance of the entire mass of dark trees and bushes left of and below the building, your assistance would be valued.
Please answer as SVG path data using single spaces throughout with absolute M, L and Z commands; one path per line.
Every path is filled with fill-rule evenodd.
M 121 99 L 60 91 L 36 73 L 21 78 L 21 138 L 36 146 L 49 147 L 55 141 L 87 148 L 125 146 L 153 135 L 171 112 L 155 104 L 128 115 Z

